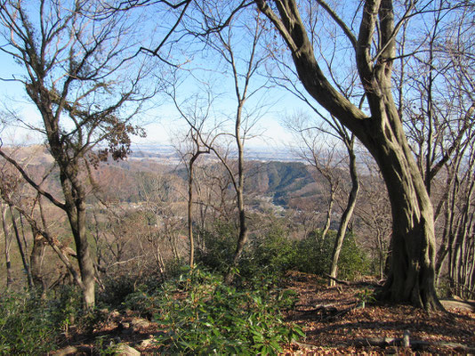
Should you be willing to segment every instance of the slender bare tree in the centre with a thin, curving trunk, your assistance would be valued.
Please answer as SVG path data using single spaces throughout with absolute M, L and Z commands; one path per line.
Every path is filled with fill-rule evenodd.
M 252 16 L 246 19 L 239 18 L 238 15 L 230 16 L 225 20 L 226 25 L 221 26 L 219 19 L 220 6 L 211 3 L 197 4 L 197 11 L 203 16 L 203 24 L 196 28 L 189 26 L 189 33 L 202 38 L 204 43 L 218 56 L 218 63 L 224 63 L 225 81 L 232 83 L 234 92 L 235 113 L 229 115 L 229 125 L 233 126 L 231 132 L 223 132 L 221 136 L 231 137 L 233 150 L 236 150 L 237 158 L 229 159 L 229 148 L 221 149 L 218 144 L 211 145 L 210 142 L 200 139 L 207 150 L 213 151 L 221 164 L 229 173 L 231 186 L 236 193 L 236 208 L 238 211 L 238 244 L 234 257 L 229 263 L 229 271 L 226 273 L 227 282 L 234 277 L 234 267 L 243 253 L 248 239 L 248 227 L 246 224 L 246 204 L 245 204 L 245 142 L 250 138 L 250 131 L 256 119 L 262 111 L 262 104 L 258 103 L 254 109 L 250 109 L 248 101 L 252 101 L 263 88 L 266 87 L 265 80 L 254 79 L 258 76 L 258 69 L 262 66 L 265 54 L 260 52 L 260 42 L 262 37 L 262 20 L 259 16 Z M 204 29 L 205 28 L 205 29 Z M 240 31 L 235 30 L 239 28 Z M 219 30 L 218 30 L 219 29 Z M 200 32 L 203 30 L 203 33 Z M 205 35 L 205 36 L 204 36 Z M 243 54 L 245 53 L 245 54 Z M 228 104 L 229 105 L 229 104 Z M 185 115 L 186 116 L 186 115 Z M 190 121 L 191 120 L 187 120 Z M 197 127 L 191 125 L 192 130 L 197 133 Z M 214 142 L 213 142 L 214 143 Z

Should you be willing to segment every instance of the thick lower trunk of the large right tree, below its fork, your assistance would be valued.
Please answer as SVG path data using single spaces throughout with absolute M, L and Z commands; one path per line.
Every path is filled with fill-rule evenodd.
M 431 200 L 412 157 L 390 150 L 380 159 L 390 195 L 392 253 L 382 294 L 392 302 L 410 302 L 427 310 L 443 309 L 435 291 L 435 235 Z

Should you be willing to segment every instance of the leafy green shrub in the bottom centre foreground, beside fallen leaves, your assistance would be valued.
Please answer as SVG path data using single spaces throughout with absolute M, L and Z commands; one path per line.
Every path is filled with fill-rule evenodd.
M 294 303 L 292 293 L 238 290 L 220 275 L 195 269 L 167 283 L 160 295 L 156 321 L 168 330 L 157 343 L 165 353 L 274 354 L 280 344 L 304 336 L 279 312 Z

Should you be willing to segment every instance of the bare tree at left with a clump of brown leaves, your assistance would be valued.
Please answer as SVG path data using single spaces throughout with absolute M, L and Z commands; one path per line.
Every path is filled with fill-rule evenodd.
M 38 127 L 20 123 L 44 134 L 48 149 L 60 170 L 64 202 L 42 190 L 21 166 L 15 166 L 27 182 L 67 215 L 76 243 L 86 307 L 94 305 L 94 268 L 85 231 L 87 167 L 106 158 L 123 158 L 129 151 L 130 134 L 140 133 L 130 119 L 146 95 L 141 79 L 147 74 L 125 71 L 132 45 L 132 23 L 124 12 L 104 20 L 94 19 L 101 10 L 94 2 L 38 2 L 32 17 L 24 1 L 4 1 L 0 11 L 2 52 L 24 70 L 14 80 L 24 85 L 41 116 Z M 108 148 L 95 155 L 99 142 Z

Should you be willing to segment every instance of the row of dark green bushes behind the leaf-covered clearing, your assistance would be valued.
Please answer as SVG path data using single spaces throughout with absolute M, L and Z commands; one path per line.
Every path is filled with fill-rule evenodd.
M 236 249 L 236 233 L 229 225 L 219 225 L 214 233 L 203 235 L 205 251 L 197 253 L 197 261 L 212 271 L 227 271 Z M 328 273 L 336 231 L 328 231 L 321 239 L 320 231 L 313 231 L 300 241 L 288 239 L 285 228 L 274 222 L 262 236 L 251 237 L 239 263 L 240 280 L 279 279 L 288 270 L 323 275 Z M 356 239 L 348 233 L 343 241 L 338 261 L 338 276 L 341 279 L 355 279 L 358 274 L 369 271 L 369 262 Z

